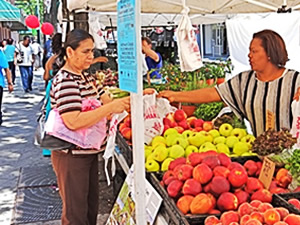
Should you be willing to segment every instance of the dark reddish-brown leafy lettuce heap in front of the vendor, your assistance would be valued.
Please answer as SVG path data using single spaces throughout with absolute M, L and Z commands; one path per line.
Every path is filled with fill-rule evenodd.
M 252 151 L 258 155 L 266 156 L 271 153 L 280 154 L 285 149 L 290 149 L 297 142 L 288 129 L 275 131 L 269 129 L 259 135 L 252 145 Z

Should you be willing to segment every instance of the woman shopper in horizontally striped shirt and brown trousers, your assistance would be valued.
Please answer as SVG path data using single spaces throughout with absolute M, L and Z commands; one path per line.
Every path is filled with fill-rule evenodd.
M 83 72 L 93 62 L 94 48 L 93 37 L 84 30 L 75 29 L 67 35 L 64 47 L 57 56 L 62 67 L 52 81 L 51 107 L 57 108 L 70 130 L 90 127 L 112 113 L 121 113 L 130 107 L 128 97 L 112 101 L 94 77 Z M 103 105 L 82 112 L 82 100 L 87 98 L 98 99 Z M 96 224 L 98 153 L 97 149 L 79 148 L 52 152 L 52 165 L 63 202 L 63 225 Z

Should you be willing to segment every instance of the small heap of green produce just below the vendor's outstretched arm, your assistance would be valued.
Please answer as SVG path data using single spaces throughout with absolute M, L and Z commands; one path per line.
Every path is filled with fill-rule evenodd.
M 198 106 L 194 112 L 194 115 L 197 118 L 210 121 L 219 114 L 223 107 L 223 102 L 203 103 Z

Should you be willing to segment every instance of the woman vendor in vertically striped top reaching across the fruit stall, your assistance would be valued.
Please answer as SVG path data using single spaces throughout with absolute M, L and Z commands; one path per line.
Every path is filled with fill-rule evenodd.
M 291 103 L 299 72 L 286 69 L 288 54 L 282 37 L 272 30 L 253 35 L 249 49 L 250 71 L 212 88 L 187 92 L 162 91 L 159 96 L 176 102 L 224 101 L 240 119 L 247 119 L 255 136 L 268 128 L 291 128 Z

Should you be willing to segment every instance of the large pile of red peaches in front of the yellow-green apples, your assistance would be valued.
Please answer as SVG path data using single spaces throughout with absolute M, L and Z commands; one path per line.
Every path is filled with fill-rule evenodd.
M 291 182 L 281 168 L 267 190 L 257 178 L 262 163 L 248 160 L 244 165 L 232 162 L 226 154 L 215 151 L 191 153 L 169 164 L 161 185 L 184 214 L 218 214 L 237 210 L 249 200 L 271 203 L 272 193 L 288 192 Z

